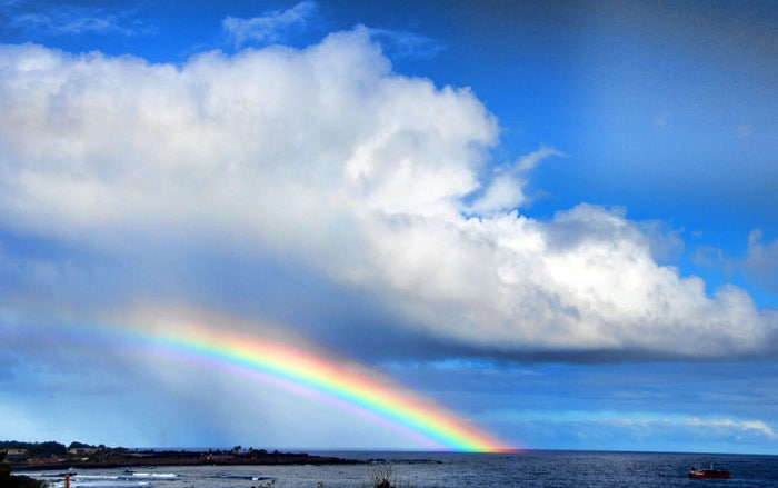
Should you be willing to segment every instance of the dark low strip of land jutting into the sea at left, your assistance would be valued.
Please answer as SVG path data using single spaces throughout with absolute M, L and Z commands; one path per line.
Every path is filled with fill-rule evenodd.
M 139 466 L 238 466 L 238 465 L 353 465 L 359 461 L 305 452 L 268 452 L 265 449 L 157 450 L 90 446 L 83 442 L 62 444 L 0 441 L 0 451 L 16 471 Z

